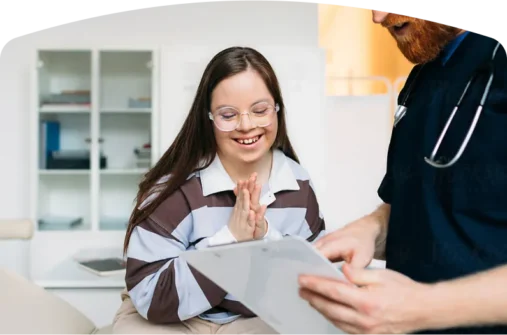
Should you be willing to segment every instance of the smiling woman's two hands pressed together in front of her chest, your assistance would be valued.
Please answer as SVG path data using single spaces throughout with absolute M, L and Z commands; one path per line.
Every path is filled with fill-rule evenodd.
M 260 205 L 262 186 L 253 173 L 246 181 L 240 180 L 234 189 L 236 205 L 229 220 L 229 230 L 237 241 L 262 239 L 267 232 L 266 207 Z

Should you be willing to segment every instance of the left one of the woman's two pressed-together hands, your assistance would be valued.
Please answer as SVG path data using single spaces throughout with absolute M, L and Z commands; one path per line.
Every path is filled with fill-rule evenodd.
M 247 182 L 238 182 L 236 204 L 229 219 L 229 230 L 238 242 L 253 239 L 255 232 L 255 212 L 250 208 L 250 192 L 245 187 Z

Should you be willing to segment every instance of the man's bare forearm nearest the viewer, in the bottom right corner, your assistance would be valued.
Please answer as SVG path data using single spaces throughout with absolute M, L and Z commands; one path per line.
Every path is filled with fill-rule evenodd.
M 432 285 L 422 329 L 507 324 L 507 265 Z

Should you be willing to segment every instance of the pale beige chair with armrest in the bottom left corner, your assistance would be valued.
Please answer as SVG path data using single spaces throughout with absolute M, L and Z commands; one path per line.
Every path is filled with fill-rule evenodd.
M 0 221 L 0 240 L 26 240 L 32 232 L 29 221 Z M 0 320 L 5 335 L 112 334 L 111 326 L 98 329 L 67 302 L 7 269 L 0 269 Z

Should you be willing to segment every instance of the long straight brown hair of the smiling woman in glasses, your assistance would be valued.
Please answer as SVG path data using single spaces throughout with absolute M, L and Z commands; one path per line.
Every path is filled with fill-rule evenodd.
M 194 102 L 178 136 L 139 184 L 136 207 L 130 216 L 125 236 L 125 253 L 134 228 L 183 185 L 191 173 L 205 169 L 211 164 L 217 153 L 213 123 L 208 118 L 211 93 L 222 80 L 248 69 L 259 73 L 273 99 L 280 106 L 277 113 L 278 132 L 273 148 L 282 150 L 285 155 L 299 162 L 287 134 L 285 105 L 280 85 L 269 62 L 251 48 L 232 47 L 221 51 L 204 70 Z M 162 177 L 169 174 L 170 178 L 164 183 L 157 184 Z M 143 204 L 141 208 L 143 201 L 154 192 L 159 192 L 155 199 L 146 206 Z

